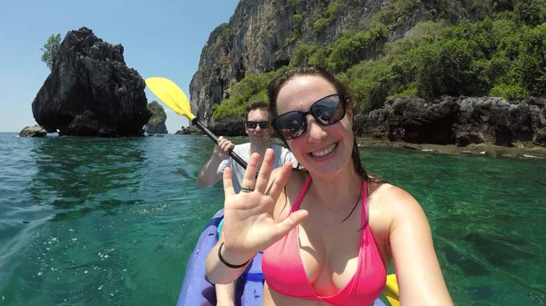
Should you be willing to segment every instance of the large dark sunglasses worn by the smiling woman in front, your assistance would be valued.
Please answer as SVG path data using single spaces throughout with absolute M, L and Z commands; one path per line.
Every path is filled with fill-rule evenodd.
M 345 116 L 345 99 L 339 94 L 327 95 L 312 104 L 308 112 L 292 111 L 278 115 L 273 120 L 273 128 L 285 140 L 298 138 L 307 130 L 305 117 L 308 114 L 321 125 L 339 123 Z

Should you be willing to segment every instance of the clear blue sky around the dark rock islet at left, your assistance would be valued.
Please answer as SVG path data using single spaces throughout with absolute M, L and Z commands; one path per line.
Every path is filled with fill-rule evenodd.
M 40 48 L 47 37 L 86 26 L 110 44 L 123 44 L 128 67 L 146 79 L 163 76 L 189 98 L 208 35 L 229 21 L 238 0 L 0 0 L 0 132 L 34 125 L 32 101 L 49 75 Z M 148 102 L 159 100 L 147 92 Z M 167 112 L 175 133 L 187 119 Z

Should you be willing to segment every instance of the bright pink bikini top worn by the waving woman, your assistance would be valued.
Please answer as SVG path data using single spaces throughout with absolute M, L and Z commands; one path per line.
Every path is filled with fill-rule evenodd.
M 311 177 L 309 176 L 289 213 L 298 210 L 299 204 L 308 191 L 310 184 Z M 344 288 L 331 296 L 319 296 L 313 289 L 299 255 L 298 227 L 292 229 L 264 251 L 262 270 L 268 286 L 274 291 L 289 297 L 325 301 L 339 306 L 368 305 L 378 299 L 385 288 L 387 271 L 369 230 L 367 193 L 366 182 L 364 181 L 362 185 L 361 221 L 363 229 L 361 230 L 359 264 L 357 271 Z

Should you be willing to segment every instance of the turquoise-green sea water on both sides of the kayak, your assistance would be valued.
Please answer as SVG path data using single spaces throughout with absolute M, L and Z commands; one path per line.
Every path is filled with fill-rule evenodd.
M 175 305 L 222 207 L 205 136 L 0 133 L 0 305 Z M 546 303 L 546 160 L 362 148 L 421 203 L 457 305 Z

